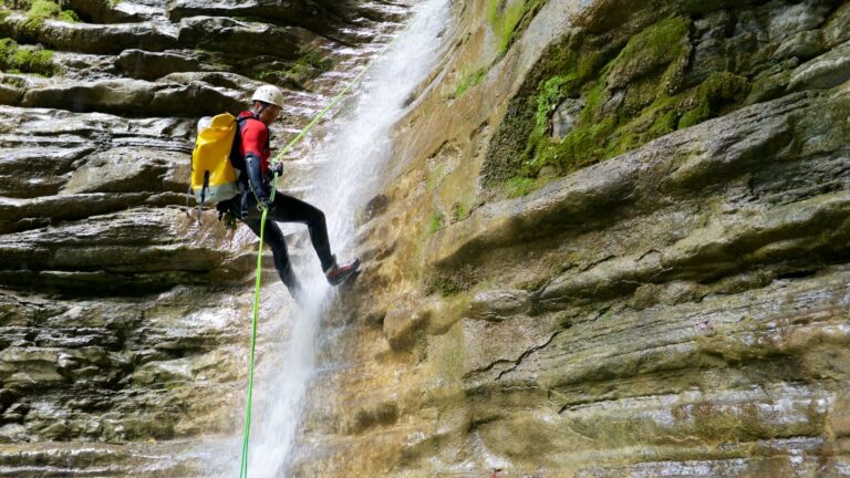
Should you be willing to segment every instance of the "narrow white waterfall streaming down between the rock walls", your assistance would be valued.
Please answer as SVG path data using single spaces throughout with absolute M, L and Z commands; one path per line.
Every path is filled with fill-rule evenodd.
M 381 173 L 392 149 L 393 126 L 410 107 L 405 100 L 436 64 L 439 33 L 447 18 L 448 0 L 428 0 L 416 6 L 410 25 L 375 61 L 322 141 L 307 154 L 304 160 L 318 166 L 303 178 L 309 181 L 303 199 L 324 211 L 331 246 L 341 262 L 353 254 L 357 212 L 381 187 Z M 251 478 L 286 476 L 291 450 L 297 445 L 302 399 L 315 370 L 321 319 L 334 300 L 333 290 L 318 273 L 318 259 L 309 252 L 308 263 L 298 268 L 310 291 L 305 305 L 286 313 L 291 316 L 276 318 L 291 324 L 283 343 L 260 349 L 260 354 L 274 347 L 283 353 L 279 362 L 259 357 L 258 366 L 266 370 L 258 371 L 260 378 L 256 385 L 249 454 Z M 227 465 L 220 463 L 225 458 L 221 456 L 209 460 L 210 468 L 215 468 L 212 476 L 238 475 L 238 463 L 230 463 L 232 451 L 226 457 Z

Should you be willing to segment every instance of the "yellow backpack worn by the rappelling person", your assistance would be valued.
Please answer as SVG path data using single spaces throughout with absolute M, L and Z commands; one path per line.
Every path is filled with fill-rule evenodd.
M 211 118 L 206 116 L 198 122 L 198 137 L 191 152 L 190 185 L 198 202 L 198 220 L 206 202 L 218 202 L 239 194 L 239 172 L 230 160 L 238 129 L 238 122 L 230 113 Z

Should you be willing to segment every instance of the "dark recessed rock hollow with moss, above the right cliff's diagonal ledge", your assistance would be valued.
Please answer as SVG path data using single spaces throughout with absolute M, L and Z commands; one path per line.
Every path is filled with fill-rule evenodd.
M 799 14 L 817 25 L 809 18 L 822 23 L 821 10 Z M 676 129 L 781 95 L 799 59 L 829 46 L 821 30 L 765 31 L 787 22 L 781 14 L 747 4 L 667 6 L 635 15 L 618 31 L 591 25 L 566 35 L 508 106 L 490 142 L 485 184 L 525 194 Z M 841 21 L 835 17 L 823 31 Z M 770 41 L 759 45 L 757 34 Z M 797 55 L 792 61 L 790 52 Z

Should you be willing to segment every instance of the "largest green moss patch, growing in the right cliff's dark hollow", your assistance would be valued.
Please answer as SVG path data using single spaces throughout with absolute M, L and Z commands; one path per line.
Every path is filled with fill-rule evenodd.
M 732 72 L 685 89 L 690 34 L 691 19 L 678 15 L 622 44 L 583 33 L 550 49 L 494 135 L 485 185 L 504 185 L 507 196 L 527 194 L 545 184 L 545 168 L 569 174 L 739 107 L 750 85 Z M 553 138 L 553 116 L 567 98 L 582 110 L 566 123 L 571 129 Z

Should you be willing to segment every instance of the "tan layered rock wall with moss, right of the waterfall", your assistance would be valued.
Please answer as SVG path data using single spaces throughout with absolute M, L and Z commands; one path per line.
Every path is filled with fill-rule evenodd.
M 848 7 L 456 6 L 293 474 L 846 475 Z

